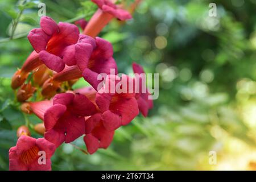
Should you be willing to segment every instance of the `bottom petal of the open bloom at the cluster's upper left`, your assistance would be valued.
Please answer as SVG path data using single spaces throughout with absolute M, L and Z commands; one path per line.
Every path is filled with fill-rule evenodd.
M 52 71 L 61 72 L 65 68 L 65 63 L 59 56 L 55 56 L 47 51 L 40 51 L 39 58 Z

